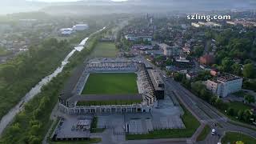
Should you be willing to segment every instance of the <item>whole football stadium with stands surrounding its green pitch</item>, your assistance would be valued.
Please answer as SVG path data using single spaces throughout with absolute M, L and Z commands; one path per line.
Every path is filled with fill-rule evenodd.
M 157 70 L 133 58 L 94 58 L 74 71 L 58 106 L 66 114 L 138 113 L 163 98 Z

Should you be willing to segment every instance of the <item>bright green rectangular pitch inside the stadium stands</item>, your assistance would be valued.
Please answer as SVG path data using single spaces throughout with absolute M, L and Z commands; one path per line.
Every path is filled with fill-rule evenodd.
M 90 74 L 82 94 L 138 94 L 134 73 Z

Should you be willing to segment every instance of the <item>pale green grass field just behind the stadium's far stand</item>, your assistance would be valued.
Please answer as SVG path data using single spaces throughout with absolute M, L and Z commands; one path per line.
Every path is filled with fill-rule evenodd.
M 91 53 L 92 57 L 97 58 L 114 58 L 118 54 L 114 42 L 98 42 Z

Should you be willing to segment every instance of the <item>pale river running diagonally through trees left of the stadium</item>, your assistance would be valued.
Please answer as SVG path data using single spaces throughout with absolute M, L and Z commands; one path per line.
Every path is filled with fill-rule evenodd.
M 101 30 L 98 30 L 96 32 L 94 32 L 93 34 L 97 34 L 98 32 L 105 30 L 106 27 L 103 27 Z M 92 36 L 93 34 L 90 34 L 90 36 Z M 64 58 L 64 60 L 62 61 L 62 65 L 58 66 L 56 70 L 54 70 L 54 72 L 48 76 L 46 76 L 45 78 L 42 78 L 42 80 L 40 82 L 38 82 L 38 84 L 36 86 L 34 86 L 22 99 L 20 102 L 18 102 L 18 104 L 16 106 L 14 106 L 5 116 L 2 117 L 1 122 L 0 122 L 0 136 L 2 135 L 3 130 L 5 130 L 6 126 L 8 126 L 8 124 L 10 122 L 12 122 L 12 120 L 14 119 L 15 115 L 18 114 L 23 108 L 24 108 L 24 104 L 26 102 L 29 102 L 32 98 L 34 98 L 34 96 L 36 96 L 37 94 L 39 94 L 41 92 L 41 88 L 42 86 L 45 86 L 48 82 L 50 82 L 54 77 L 56 77 L 59 73 L 62 72 L 64 66 L 66 66 L 66 64 L 68 63 L 69 58 L 74 54 L 75 51 L 81 51 L 84 48 L 84 45 L 86 44 L 88 38 L 87 37 L 85 39 L 82 40 L 82 42 L 79 44 L 79 46 L 74 47 L 73 50 L 70 51 L 69 54 L 66 55 L 66 58 Z

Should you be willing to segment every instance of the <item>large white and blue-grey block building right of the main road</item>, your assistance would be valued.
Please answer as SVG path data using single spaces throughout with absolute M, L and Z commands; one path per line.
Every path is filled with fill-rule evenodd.
M 238 92 L 242 88 L 242 78 L 224 74 L 217 78 L 207 80 L 206 88 L 220 97 L 226 97 L 228 94 Z

